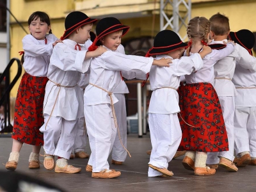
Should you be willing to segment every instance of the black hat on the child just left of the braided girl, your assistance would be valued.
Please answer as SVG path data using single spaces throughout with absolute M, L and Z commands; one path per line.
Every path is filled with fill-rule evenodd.
M 148 54 L 164 54 L 186 47 L 188 47 L 188 44 L 182 42 L 177 33 L 172 30 L 163 30 L 157 33 L 154 39 L 154 47 L 148 51 Z

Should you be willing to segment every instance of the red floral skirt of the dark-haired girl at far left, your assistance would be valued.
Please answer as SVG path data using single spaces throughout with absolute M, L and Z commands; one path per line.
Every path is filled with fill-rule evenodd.
M 12 138 L 29 145 L 44 145 L 43 108 L 47 77 L 35 77 L 25 72 L 20 81 L 15 102 Z

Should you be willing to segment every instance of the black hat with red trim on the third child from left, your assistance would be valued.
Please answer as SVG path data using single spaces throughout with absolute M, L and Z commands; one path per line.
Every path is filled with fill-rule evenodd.
M 113 33 L 115 31 L 123 30 L 122 36 L 124 36 L 128 30 L 129 26 L 124 26 L 118 19 L 115 17 L 106 17 L 101 19 L 96 26 L 96 35 L 97 37 L 93 41 L 93 44 L 89 47 L 89 51 L 93 51 L 100 45 L 100 38 Z

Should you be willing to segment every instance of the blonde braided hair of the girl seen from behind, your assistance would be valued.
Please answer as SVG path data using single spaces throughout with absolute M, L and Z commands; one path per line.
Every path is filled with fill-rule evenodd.
M 189 41 L 189 46 L 193 42 L 202 41 L 202 44 L 207 44 L 208 38 L 207 35 L 210 33 L 211 21 L 205 17 L 194 17 L 189 20 L 187 34 Z M 189 55 L 189 50 L 187 49 L 187 55 Z

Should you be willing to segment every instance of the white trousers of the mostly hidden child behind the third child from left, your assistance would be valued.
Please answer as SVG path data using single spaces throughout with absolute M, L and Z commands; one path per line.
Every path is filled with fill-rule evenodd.
M 116 111 L 116 119 L 119 127 L 120 138 L 125 148 L 127 148 L 127 116 L 125 107 L 124 94 L 116 94 L 116 98 L 119 100 L 114 104 Z M 116 130 L 117 131 L 117 130 Z M 127 152 L 120 143 L 118 132 L 116 132 L 116 139 L 112 149 L 112 159 L 115 161 L 124 162 L 127 156 Z

